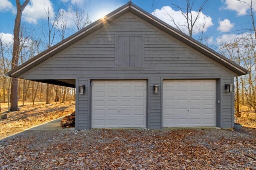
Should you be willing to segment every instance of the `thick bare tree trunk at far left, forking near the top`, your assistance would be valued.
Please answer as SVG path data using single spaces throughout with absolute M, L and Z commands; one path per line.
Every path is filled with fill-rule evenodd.
M 30 0 L 26 0 L 23 4 L 20 4 L 19 0 L 16 0 L 16 9 L 17 14 L 14 23 L 14 31 L 13 31 L 13 52 L 12 52 L 12 69 L 18 66 L 18 59 L 20 55 L 20 23 L 22 11 L 27 6 Z M 10 111 L 18 111 L 18 79 L 12 78 L 12 87 L 11 87 L 11 107 Z

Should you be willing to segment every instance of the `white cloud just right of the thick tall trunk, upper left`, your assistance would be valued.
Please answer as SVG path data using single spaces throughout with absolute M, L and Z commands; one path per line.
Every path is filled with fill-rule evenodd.
M 37 23 L 40 19 L 46 19 L 48 12 L 50 18 L 54 17 L 54 7 L 50 0 L 31 0 L 22 13 L 24 20 L 29 23 Z

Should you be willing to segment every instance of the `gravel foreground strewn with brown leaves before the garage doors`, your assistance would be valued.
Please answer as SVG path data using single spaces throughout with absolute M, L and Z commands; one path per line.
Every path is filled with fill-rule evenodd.
M 0 141 L 8 169 L 256 169 L 256 131 L 24 131 Z

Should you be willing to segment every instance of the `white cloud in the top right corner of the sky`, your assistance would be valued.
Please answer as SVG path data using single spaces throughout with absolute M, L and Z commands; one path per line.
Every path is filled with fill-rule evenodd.
M 250 9 L 249 5 L 251 4 L 251 0 L 242 0 L 242 2 L 239 2 L 238 0 L 226 0 L 225 4 L 225 9 L 234 10 L 237 12 L 238 16 L 244 16 Z M 252 9 L 254 10 L 254 12 L 256 11 L 256 0 L 252 0 Z

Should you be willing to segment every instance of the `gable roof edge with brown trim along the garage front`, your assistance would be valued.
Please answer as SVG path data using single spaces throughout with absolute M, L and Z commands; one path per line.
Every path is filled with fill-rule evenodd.
M 86 37 L 87 35 L 90 35 L 90 33 L 96 31 L 97 29 L 100 29 L 101 27 L 104 27 L 106 23 L 110 23 L 116 18 L 122 16 L 123 14 L 127 12 L 132 12 L 133 14 L 137 15 L 138 17 L 142 18 L 143 20 L 147 21 L 148 23 L 158 27 L 159 29 L 165 31 L 166 33 L 170 34 L 171 36 L 175 37 L 176 39 L 179 39 L 183 43 L 189 45 L 190 47 L 196 49 L 197 51 L 200 51 L 200 53 L 210 57 L 214 61 L 217 61 L 218 63 L 222 64 L 226 68 L 229 68 L 233 72 L 235 72 L 237 75 L 244 75 L 248 73 L 248 70 L 243 68 L 242 66 L 234 63 L 233 61 L 227 59 L 223 55 L 220 55 L 216 51 L 210 49 L 206 45 L 203 45 L 202 43 L 196 41 L 195 39 L 189 37 L 188 35 L 182 33 L 178 29 L 168 25 L 162 20 L 159 20 L 152 14 L 146 12 L 145 10 L 139 8 L 138 6 L 134 5 L 132 2 L 128 2 L 124 6 L 121 6 L 120 8 L 114 10 L 110 14 L 106 15 L 104 19 L 99 19 L 95 21 L 94 23 L 88 25 L 84 29 L 81 29 L 77 33 L 71 35 L 70 37 L 64 39 L 63 41 L 57 43 L 56 45 L 50 47 L 46 51 L 43 51 L 42 53 L 38 54 L 37 56 L 33 57 L 32 59 L 28 60 L 27 62 L 21 64 L 20 66 L 17 66 L 10 72 L 8 72 L 6 75 L 10 77 L 18 77 L 24 72 L 30 70 L 34 66 L 36 66 L 39 63 L 42 63 L 49 57 L 52 57 L 53 55 L 57 54 L 58 52 L 64 50 L 68 46 L 72 45 L 76 41 L 79 41 L 80 39 Z M 38 81 L 38 80 L 36 80 Z

